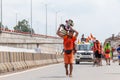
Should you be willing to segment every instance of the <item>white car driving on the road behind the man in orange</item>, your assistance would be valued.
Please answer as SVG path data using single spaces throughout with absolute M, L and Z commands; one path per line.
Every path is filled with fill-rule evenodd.
M 93 62 L 94 53 L 91 47 L 91 43 L 82 43 L 76 45 L 75 63 L 80 62 Z

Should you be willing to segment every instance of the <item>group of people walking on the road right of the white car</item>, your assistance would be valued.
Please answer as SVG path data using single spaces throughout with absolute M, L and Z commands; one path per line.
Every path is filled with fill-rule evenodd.
M 104 46 L 100 44 L 98 40 L 94 42 L 93 52 L 94 52 L 94 65 L 102 66 L 102 58 L 105 59 L 106 65 L 110 65 L 113 59 L 114 51 L 117 51 L 118 61 L 120 65 L 120 45 L 115 49 L 111 47 L 110 42 L 106 42 Z

